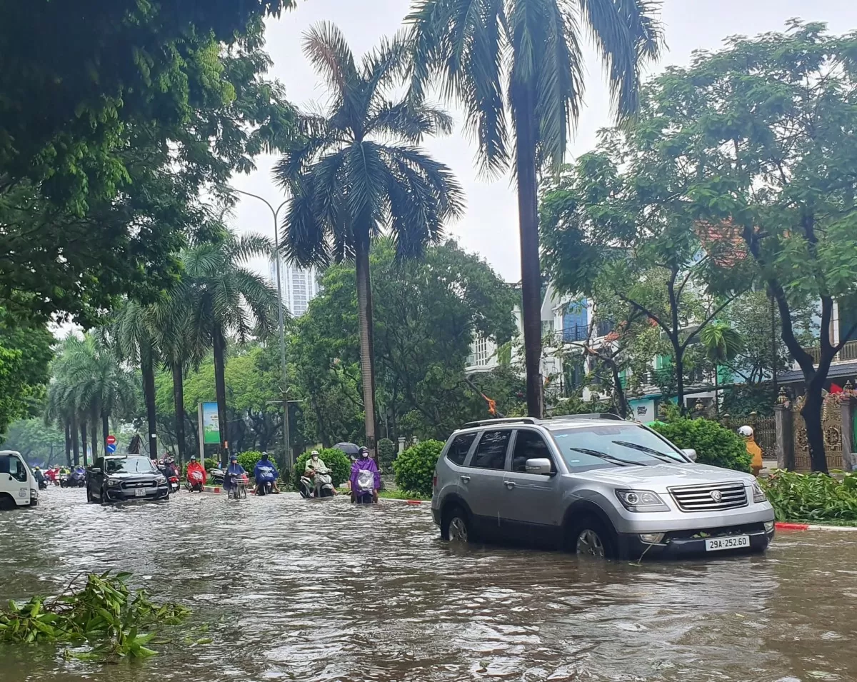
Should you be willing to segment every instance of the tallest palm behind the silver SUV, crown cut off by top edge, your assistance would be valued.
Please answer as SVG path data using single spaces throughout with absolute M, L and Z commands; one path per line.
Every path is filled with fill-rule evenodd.
M 578 120 L 581 23 L 601 53 L 614 112 L 622 120 L 637 109 L 642 65 L 660 51 L 656 7 L 652 0 L 416 0 L 406 20 L 413 95 L 436 78 L 446 96 L 464 107 L 482 171 L 505 171 L 513 160 L 530 416 L 542 416 L 537 171 L 548 162 L 559 168 L 568 131 Z

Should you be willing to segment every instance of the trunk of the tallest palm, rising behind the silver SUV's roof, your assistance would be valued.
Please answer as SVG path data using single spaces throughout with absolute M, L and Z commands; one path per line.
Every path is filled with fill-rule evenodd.
M 536 97 L 530 83 L 512 85 L 515 100 L 515 171 L 518 176 L 518 231 L 521 241 L 521 312 L 527 414 L 542 416 L 542 271 L 538 253 Z

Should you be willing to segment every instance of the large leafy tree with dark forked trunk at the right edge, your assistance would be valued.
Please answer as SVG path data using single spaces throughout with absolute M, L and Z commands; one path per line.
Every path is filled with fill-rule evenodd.
M 812 470 L 823 472 L 822 392 L 830 362 L 857 332 L 842 324 L 836 344 L 830 334 L 835 302 L 850 306 L 857 294 L 855 49 L 854 33 L 797 20 L 785 33 L 728 39 L 657 78 L 642 124 L 650 163 L 692 169 L 689 209 L 774 297 L 803 374 Z M 807 298 L 820 313 L 814 354 L 794 324 Z

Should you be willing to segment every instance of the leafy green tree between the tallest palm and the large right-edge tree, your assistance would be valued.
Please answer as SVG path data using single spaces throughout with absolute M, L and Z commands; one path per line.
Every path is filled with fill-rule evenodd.
M 544 260 L 560 291 L 618 300 L 668 342 L 670 381 L 685 410 L 699 334 L 749 288 L 746 267 L 700 229 L 686 200 L 692 169 L 651 159 L 646 123 L 604 134 L 595 153 L 566 168 L 542 200 Z M 627 316 L 626 316 L 627 319 Z

